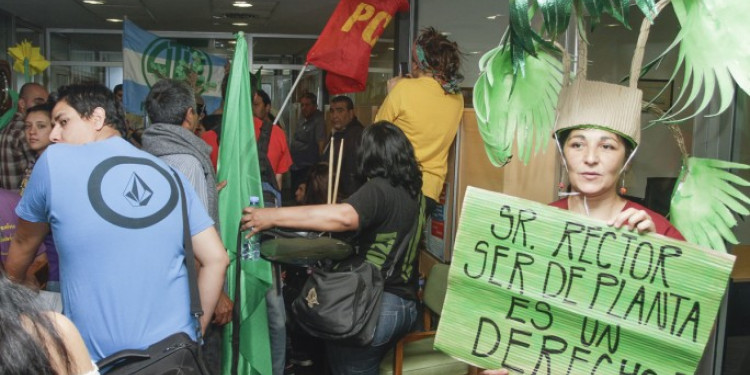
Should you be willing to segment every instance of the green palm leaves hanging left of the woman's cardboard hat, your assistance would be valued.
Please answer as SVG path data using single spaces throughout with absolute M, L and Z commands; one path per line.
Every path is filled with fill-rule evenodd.
M 521 160 L 547 146 L 555 124 L 562 87 L 562 63 L 539 51 L 525 60 L 525 74 L 514 75 L 513 52 L 499 46 L 479 61 L 482 72 L 474 86 L 474 109 L 485 151 L 493 165 L 511 158 L 514 139 Z

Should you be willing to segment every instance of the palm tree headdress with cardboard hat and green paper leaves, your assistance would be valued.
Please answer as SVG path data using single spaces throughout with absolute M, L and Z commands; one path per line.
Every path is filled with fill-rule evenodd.
M 671 220 L 688 241 L 724 250 L 724 241 L 737 243 L 731 231 L 737 224 L 734 214 L 750 214 L 745 207 L 750 198 L 733 186 L 750 186 L 750 182 L 727 170 L 750 166 L 689 157 L 674 123 L 684 120 L 676 117 L 692 104 L 697 107 L 695 114 L 686 118 L 706 109 L 714 89 L 720 98 L 718 113 L 731 103 L 735 84 L 750 93 L 750 43 L 743 39 L 750 33 L 750 23 L 744 19 L 750 13 L 750 1 L 634 2 L 645 18 L 628 87 L 586 80 L 588 25 L 583 19 L 577 19 L 581 42 L 578 77 L 572 84 L 568 83 L 570 58 L 556 39 L 567 31 L 573 14 L 587 14 L 593 27 L 606 13 L 630 28 L 630 1 L 511 2 L 509 31 L 497 48 L 479 60 L 481 75 L 474 86 L 474 108 L 485 150 L 494 165 L 502 166 L 510 160 L 515 142 L 520 159 L 526 163 L 532 150 L 546 147 L 553 131 L 580 126 L 606 128 L 639 143 L 641 94 L 636 87 L 643 73 L 643 52 L 651 23 L 671 3 L 681 30 L 664 54 L 679 46 L 672 78 L 684 65 L 685 81 L 675 101 L 682 107 L 659 114 L 655 121 L 667 124 L 674 131 L 683 154 L 682 172 L 671 201 Z M 533 22 L 541 25 L 536 29 L 532 25 L 535 13 L 541 14 L 536 19 L 542 21 Z M 651 63 L 646 65 L 651 66 Z M 644 107 L 654 106 L 647 103 Z

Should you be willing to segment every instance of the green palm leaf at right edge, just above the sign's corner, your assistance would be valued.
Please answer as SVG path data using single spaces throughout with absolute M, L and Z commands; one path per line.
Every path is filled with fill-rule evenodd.
M 689 242 L 726 251 L 724 241 L 737 243 L 731 228 L 737 225 L 733 213 L 748 215 L 750 204 L 733 185 L 750 182 L 727 169 L 750 169 L 750 165 L 716 159 L 688 158 L 672 194 L 671 221 Z

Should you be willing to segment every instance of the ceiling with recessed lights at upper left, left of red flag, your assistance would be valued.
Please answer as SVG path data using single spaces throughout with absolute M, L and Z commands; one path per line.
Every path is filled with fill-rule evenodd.
M 147 30 L 318 34 L 338 0 L 2 0 L 0 9 L 34 26 L 75 29 L 120 29 L 108 18 L 127 17 Z M 248 26 L 233 26 L 247 22 Z

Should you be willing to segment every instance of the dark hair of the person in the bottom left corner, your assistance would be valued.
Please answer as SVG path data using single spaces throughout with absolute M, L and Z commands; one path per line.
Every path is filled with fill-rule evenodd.
M 0 374 L 57 374 L 50 350 L 66 372 L 73 364 L 49 315 L 35 304 L 34 293 L 8 280 L 0 268 Z

